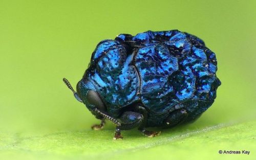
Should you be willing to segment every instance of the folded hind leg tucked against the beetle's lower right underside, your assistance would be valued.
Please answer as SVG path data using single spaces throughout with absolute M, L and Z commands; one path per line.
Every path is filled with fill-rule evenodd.
M 184 122 L 187 118 L 187 111 L 184 108 L 170 112 L 170 115 L 165 119 L 165 125 L 171 127 Z

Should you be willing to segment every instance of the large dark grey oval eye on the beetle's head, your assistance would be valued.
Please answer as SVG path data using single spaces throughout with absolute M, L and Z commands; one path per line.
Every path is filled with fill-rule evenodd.
M 94 90 L 89 90 L 86 99 L 89 104 L 95 105 L 96 108 L 98 108 L 101 111 L 105 110 L 105 106 L 103 102 L 101 101 L 99 95 Z

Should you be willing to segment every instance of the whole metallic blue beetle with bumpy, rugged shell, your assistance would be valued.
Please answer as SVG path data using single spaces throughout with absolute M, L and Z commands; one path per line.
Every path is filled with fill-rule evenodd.
M 101 120 L 121 130 L 137 127 L 152 137 L 160 132 L 146 127 L 173 127 L 196 120 L 216 98 L 215 53 L 200 38 L 178 30 L 120 34 L 101 41 L 77 83 L 75 98 Z

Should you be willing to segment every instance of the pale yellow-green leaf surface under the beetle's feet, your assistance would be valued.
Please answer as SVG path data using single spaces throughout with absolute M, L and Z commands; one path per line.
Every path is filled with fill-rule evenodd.
M 256 121 L 220 124 L 195 129 L 182 125 L 146 138 L 137 130 L 123 131 L 112 140 L 113 130 L 58 132 L 40 136 L 0 134 L 0 159 L 252 159 L 256 151 Z M 219 150 L 250 151 L 219 154 Z

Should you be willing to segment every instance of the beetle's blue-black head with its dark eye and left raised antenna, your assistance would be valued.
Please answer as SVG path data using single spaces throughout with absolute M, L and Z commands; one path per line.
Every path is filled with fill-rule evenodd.
M 76 85 L 77 92 L 75 92 L 66 78 L 63 78 L 63 81 L 72 90 L 75 98 L 79 102 L 84 103 L 97 119 L 103 119 L 99 112 L 104 112 L 105 106 L 100 99 L 100 96 L 97 93 L 95 87 L 89 80 L 84 78 L 81 79 Z

